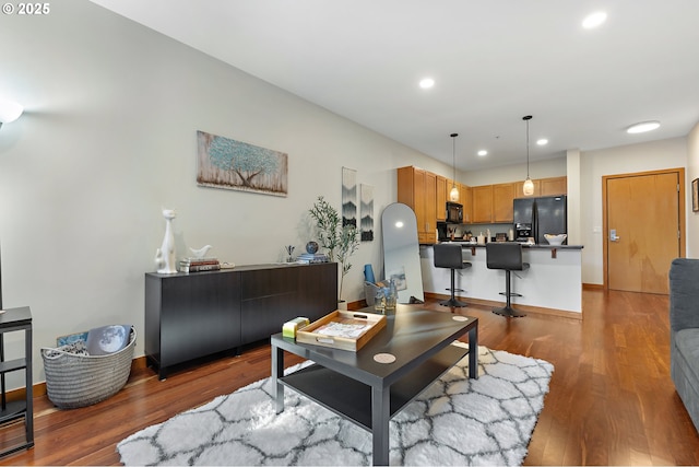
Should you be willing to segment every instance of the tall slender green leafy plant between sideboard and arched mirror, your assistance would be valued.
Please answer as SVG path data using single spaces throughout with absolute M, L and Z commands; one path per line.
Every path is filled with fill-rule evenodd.
M 355 225 L 342 225 L 337 210 L 322 196 L 318 197 L 313 207 L 308 211 L 316 221 L 318 243 L 328 252 L 331 262 L 339 262 L 342 270 L 340 276 L 340 300 L 342 300 L 342 284 L 350 272 L 352 264 L 350 257 L 359 247 L 359 235 Z

